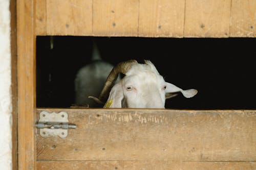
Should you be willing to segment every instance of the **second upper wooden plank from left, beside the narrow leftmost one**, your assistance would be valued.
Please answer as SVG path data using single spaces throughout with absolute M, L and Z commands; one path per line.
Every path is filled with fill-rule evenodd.
M 47 35 L 92 35 L 92 0 L 48 0 Z

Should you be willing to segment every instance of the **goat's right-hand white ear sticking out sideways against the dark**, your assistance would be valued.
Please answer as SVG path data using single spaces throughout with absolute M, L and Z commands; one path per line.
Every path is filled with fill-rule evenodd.
M 196 89 L 183 90 L 173 84 L 166 82 L 166 89 L 165 89 L 166 93 L 174 93 L 174 92 L 179 92 L 179 91 L 184 95 L 185 98 L 192 98 L 198 92 Z M 172 98 L 172 96 L 170 96 L 169 98 Z M 168 98 L 166 98 L 166 99 L 168 99 Z

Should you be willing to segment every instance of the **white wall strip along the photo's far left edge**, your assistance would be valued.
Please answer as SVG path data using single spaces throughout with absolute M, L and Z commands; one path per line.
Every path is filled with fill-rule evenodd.
M 0 1 L 0 169 L 12 169 L 10 0 Z

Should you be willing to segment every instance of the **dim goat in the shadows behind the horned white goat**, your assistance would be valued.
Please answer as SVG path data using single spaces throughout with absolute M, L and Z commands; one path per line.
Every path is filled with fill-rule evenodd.
M 99 107 L 88 98 L 89 95 L 98 96 L 114 66 L 100 57 L 98 46 L 93 41 L 92 62 L 80 68 L 75 78 L 75 105 Z

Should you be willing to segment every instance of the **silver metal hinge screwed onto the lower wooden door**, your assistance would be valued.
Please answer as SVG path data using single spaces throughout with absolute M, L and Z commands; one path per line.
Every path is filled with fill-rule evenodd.
M 42 137 L 67 137 L 68 129 L 75 129 L 76 125 L 69 124 L 68 113 L 49 113 L 47 111 L 42 111 L 39 114 L 40 118 L 38 123 L 35 125 L 40 129 L 40 135 Z

